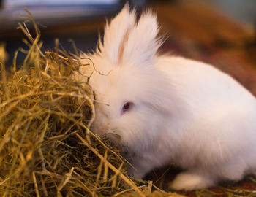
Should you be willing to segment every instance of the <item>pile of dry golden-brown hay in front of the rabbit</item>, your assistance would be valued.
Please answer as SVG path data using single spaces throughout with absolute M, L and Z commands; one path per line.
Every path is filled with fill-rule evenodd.
M 0 61 L 0 196 L 177 196 L 127 176 L 118 149 L 89 130 L 91 88 L 72 77 L 80 62 L 57 41 L 42 51 L 35 24 L 35 39 L 19 26 L 29 46 L 22 69 L 14 59 L 7 77 Z

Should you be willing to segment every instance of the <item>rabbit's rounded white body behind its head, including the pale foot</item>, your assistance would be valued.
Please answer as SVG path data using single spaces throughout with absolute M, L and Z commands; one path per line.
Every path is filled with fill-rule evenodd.
M 138 155 L 141 169 L 135 168 L 142 174 L 152 163 L 154 167 L 175 163 L 187 169 L 188 174 L 180 174 L 171 185 L 176 190 L 206 188 L 219 179 L 238 180 L 244 172 L 255 170 L 255 97 L 206 63 L 165 57 L 160 58 L 157 69 L 167 75 L 170 92 L 178 99 L 173 102 L 181 106 L 163 117 L 152 155 L 146 152 L 144 162 L 143 152 Z

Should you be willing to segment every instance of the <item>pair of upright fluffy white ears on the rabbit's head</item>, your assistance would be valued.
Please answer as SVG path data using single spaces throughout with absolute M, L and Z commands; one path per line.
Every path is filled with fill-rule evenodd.
M 126 4 L 110 25 L 107 24 L 99 50 L 120 66 L 131 61 L 135 64 L 151 61 L 162 44 L 157 34 L 156 15 L 151 11 L 144 12 L 137 22 L 135 11 L 129 11 Z

